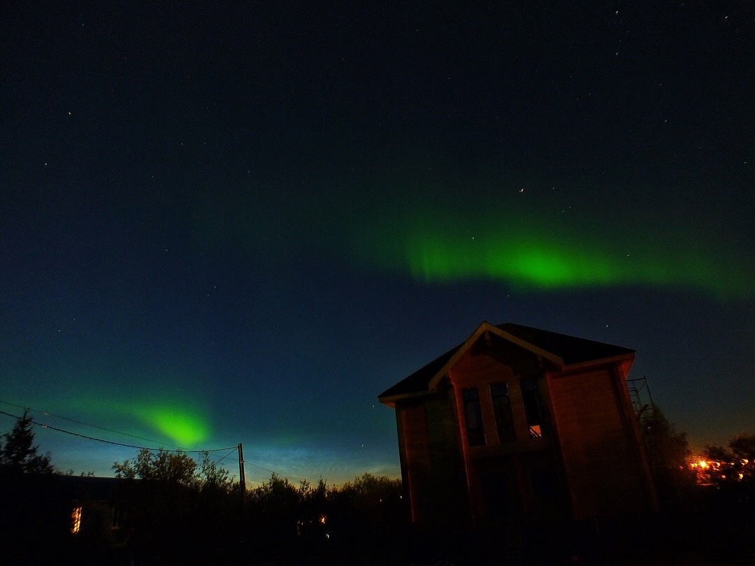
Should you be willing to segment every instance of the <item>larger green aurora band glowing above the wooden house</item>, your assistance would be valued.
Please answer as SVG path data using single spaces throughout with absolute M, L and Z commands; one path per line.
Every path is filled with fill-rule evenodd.
M 519 291 L 640 285 L 753 297 L 752 258 L 669 223 L 614 226 L 574 214 L 423 211 L 365 223 L 354 254 L 418 281 L 501 281 Z M 633 233 L 634 235 L 628 235 Z

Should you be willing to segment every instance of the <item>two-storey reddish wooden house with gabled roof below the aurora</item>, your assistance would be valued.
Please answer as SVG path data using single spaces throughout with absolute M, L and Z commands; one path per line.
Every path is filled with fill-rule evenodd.
M 634 355 L 483 322 L 381 393 L 396 410 L 411 520 L 484 526 L 654 509 L 626 384 Z

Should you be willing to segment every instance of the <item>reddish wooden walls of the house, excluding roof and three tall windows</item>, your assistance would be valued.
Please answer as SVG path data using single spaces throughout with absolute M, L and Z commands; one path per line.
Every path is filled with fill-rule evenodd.
M 631 359 L 570 371 L 501 337 L 480 337 L 436 391 L 396 401 L 412 521 L 489 524 L 508 515 L 590 518 L 653 506 L 626 389 Z M 543 436 L 531 438 L 521 380 L 535 378 Z M 508 384 L 516 441 L 500 441 L 490 385 Z M 462 392 L 476 387 L 485 444 L 470 446 Z

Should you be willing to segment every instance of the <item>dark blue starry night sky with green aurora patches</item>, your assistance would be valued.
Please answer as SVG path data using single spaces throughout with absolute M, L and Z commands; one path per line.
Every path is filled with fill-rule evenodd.
M 28 4 L 0 410 L 397 476 L 377 395 L 486 320 L 636 349 L 696 450 L 755 432 L 750 2 Z M 77 474 L 137 453 L 35 431 Z

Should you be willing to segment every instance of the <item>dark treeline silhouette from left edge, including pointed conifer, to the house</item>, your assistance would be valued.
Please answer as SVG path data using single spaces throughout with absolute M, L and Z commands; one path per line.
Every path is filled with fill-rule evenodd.
M 8 563 L 213 564 L 381 552 L 405 528 L 399 479 L 335 487 L 273 473 L 242 494 L 208 453 L 142 450 L 115 478 L 60 474 L 28 413 L 2 436 L 0 528 Z

